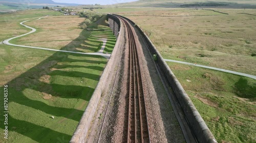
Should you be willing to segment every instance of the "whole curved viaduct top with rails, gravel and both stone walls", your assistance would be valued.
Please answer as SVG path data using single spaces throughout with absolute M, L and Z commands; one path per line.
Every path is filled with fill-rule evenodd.
M 109 16 L 110 27 L 119 44 L 110 58 L 111 69 L 103 74 L 112 72 L 113 76 L 109 75 L 111 80 L 108 82 L 102 81 L 101 85 L 109 85 L 109 88 L 96 92 L 96 98 L 90 101 L 91 106 L 85 111 L 87 114 L 81 119 L 71 142 L 216 143 L 142 30 L 130 19 Z M 152 52 L 159 54 L 156 63 Z M 115 76 L 114 72 L 117 72 Z

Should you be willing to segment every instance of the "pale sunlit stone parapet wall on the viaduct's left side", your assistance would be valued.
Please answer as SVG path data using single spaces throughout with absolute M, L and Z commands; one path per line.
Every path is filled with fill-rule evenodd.
M 86 110 L 84 111 L 81 120 L 79 121 L 78 126 L 70 140 L 70 143 L 84 142 L 84 140 L 87 138 L 91 123 L 93 121 L 98 104 L 101 99 L 101 95 L 104 93 L 104 90 L 108 90 L 108 83 L 111 81 L 115 73 L 115 66 L 119 62 L 119 60 L 115 60 L 115 58 L 119 56 L 118 54 L 120 54 L 121 49 L 119 44 L 121 41 L 121 37 L 118 36 L 119 32 L 122 32 L 122 29 L 120 28 L 121 24 L 120 20 L 115 16 L 108 15 L 108 18 L 111 29 L 114 32 L 117 41 L 110 56 L 110 59 L 106 64 L 104 71 L 99 79 L 97 87 L 94 90 L 94 93 L 86 107 Z

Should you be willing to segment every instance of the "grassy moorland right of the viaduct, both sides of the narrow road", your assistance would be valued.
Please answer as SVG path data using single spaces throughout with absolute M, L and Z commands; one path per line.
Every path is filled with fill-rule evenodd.
M 165 59 L 255 75 L 256 16 L 240 14 L 255 14 L 255 10 L 214 10 L 228 15 L 199 8 L 166 8 L 118 14 L 139 25 Z M 254 79 L 193 66 L 167 64 L 218 142 L 256 141 Z

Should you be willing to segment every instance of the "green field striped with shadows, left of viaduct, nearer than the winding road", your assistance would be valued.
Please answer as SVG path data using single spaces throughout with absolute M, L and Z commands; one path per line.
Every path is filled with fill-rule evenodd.
M 11 80 L 1 83 L 9 85 L 10 138 L 7 142 L 69 140 L 106 60 L 100 56 L 2 45 L 1 53 L 1 65 L 5 68 L 1 69 L 2 79 Z M 15 74 L 18 76 L 13 77 Z

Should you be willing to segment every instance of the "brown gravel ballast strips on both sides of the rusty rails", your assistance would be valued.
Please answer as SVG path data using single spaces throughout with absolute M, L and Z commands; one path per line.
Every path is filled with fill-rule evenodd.
M 124 24 L 123 24 L 124 25 Z M 143 76 L 144 96 L 146 102 L 148 124 L 150 128 L 151 142 L 185 142 L 183 133 L 175 116 L 172 106 L 165 93 L 162 82 L 155 69 L 151 55 L 148 53 L 142 39 L 136 35 L 136 45 L 141 62 L 141 75 Z M 127 30 L 124 28 L 124 36 L 127 38 Z M 120 60 L 117 84 L 113 89 L 113 98 L 102 128 L 101 138 L 98 141 L 102 121 L 99 121 L 97 132 L 93 142 L 127 142 L 128 106 L 126 97 L 129 97 L 129 45 L 128 39 Z M 112 90 L 112 89 L 110 89 Z M 106 107 L 106 106 L 105 106 Z M 105 112 L 104 112 L 105 113 Z M 103 113 L 103 115 L 104 115 Z

